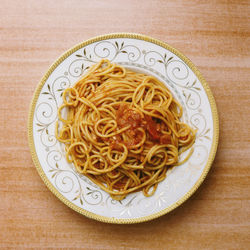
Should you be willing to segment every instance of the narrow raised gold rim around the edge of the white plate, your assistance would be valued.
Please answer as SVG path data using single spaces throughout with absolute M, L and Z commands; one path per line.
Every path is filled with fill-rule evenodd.
M 38 97 L 40 95 L 41 89 L 44 85 L 44 83 L 47 81 L 51 73 L 56 69 L 56 67 L 63 62 L 69 55 L 72 53 L 76 52 L 77 50 L 81 49 L 84 46 L 87 46 L 91 43 L 98 42 L 101 40 L 107 40 L 107 39 L 114 39 L 114 38 L 130 38 L 130 39 L 138 39 L 138 40 L 144 40 L 156 45 L 159 45 L 172 53 L 174 53 L 176 56 L 181 58 L 187 65 L 188 67 L 194 72 L 194 74 L 197 76 L 197 78 L 200 80 L 206 95 L 208 97 L 210 107 L 211 107 L 211 112 L 212 112 L 212 118 L 213 118 L 213 127 L 214 127 L 214 133 L 213 133 L 213 141 L 212 141 L 212 146 L 211 146 L 211 151 L 209 154 L 209 157 L 207 159 L 207 163 L 203 169 L 203 172 L 199 179 L 196 181 L 196 183 L 193 185 L 193 187 L 184 195 L 182 196 L 177 202 L 172 204 L 171 206 L 168 206 L 167 208 L 157 212 L 153 213 L 148 216 L 144 217 L 139 217 L 139 218 L 132 218 L 132 219 L 117 219 L 114 217 L 106 217 L 106 216 L 101 216 L 97 215 L 95 213 L 89 212 L 83 208 L 78 207 L 77 205 L 73 204 L 69 200 L 67 200 L 49 181 L 47 178 L 46 174 L 43 171 L 42 166 L 40 165 L 40 162 L 37 157 L 37 152 L 35 149 L 34 145 L 34 140 L 33 140 L 33 118 L 34 118 L 34 112 L 35 112 L 35 106 L 38 100 Z M 85 215 L 88 218 L 95 219 L 97 221 L 101 222 L 106 222 L 106 223 L 114 223 L 114 224 L 132 224 L 132 223 L 140 223 L 140 222 L 146 222 L 155 218 L 158 218 L 164 214 L 169 213 L 173 209 L 177 208 L 180 206 L 182 203 L 184 203 L 190 196 L 199 188 L 199 186 L 203 183 L 205 180 L 211 166 L 213 163 L 213 160 L 216 155 L 217 147 L 218 147 L 218 140 L 219 140 L 219 117 L 218 117 L 218 112 L 217 112 L 217 107 L 215 103 L 215 99 L 213 97 L 212 91 L 210 90 L 207 82 L 201 75 L 200 71 L 196 68 L 196 66 L 189 60 L 186 56 L 184 56 L 180 51 L 177 49 L 173 48 L 172 46 L 168 45 L 167 43 L 160 41 L 158 39 L 142 35 L 142 34 L 137 34 L 137 33 L 111 33 L 111 34 L 105 34 L 105 35 L 100 35 L 96 36 L 94 38 L 88 39 L 84 42 L 81 42 L 74 47 L 70 48 L 68 51 L 63 53 L 48 69 L 46 74 L 42 77 L 40 80 L 39 84 L 37 85 L 35 92 L 33 94 L 32 101 L 30 103 L 30 108 L 29 108 L 29 114 L 28 114 L 28 142 L 29 142 L 29 147 L 31 151 L 31 156 L 32 160 L 36 166 L 36 169 L 44 181 L 45 185 L 48 187 L 48 189 L 58 198 L 60 199 L 65 205 L 70 207 L 71 209 L 75 210 L 76 212 Z

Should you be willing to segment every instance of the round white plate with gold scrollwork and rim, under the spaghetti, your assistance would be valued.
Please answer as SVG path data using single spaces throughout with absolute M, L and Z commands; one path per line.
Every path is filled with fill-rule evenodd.
M 182 119 L 197 128 L 194 153 L 183 165 L 168 171 L 152 197 L 142 192 L 122 201 L 106 192 L 67 163 L 63 145 L 55 138 L 62 92 L 88 68 L 107 58 L 124 67 L 153 75 L 183 106 Z M 73 210 L 103 222 L 138 223 L 157 218 L 187 200 L 205 179 L 217 150 L 219 122 L 208 84 L 194 64 L 178 50 L 139 34 L 108 34 L 67 51 L 49 68 L 29 111 L 28 137 L 34 164 L 47 187 Z

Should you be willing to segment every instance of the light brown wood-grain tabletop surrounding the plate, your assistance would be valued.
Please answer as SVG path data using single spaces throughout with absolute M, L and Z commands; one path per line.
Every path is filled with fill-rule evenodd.
M 250 2 L 0 0 L 0 247 L 250 248 Z M 32 94 L 65 50 L 96 35 L 146 34 L 201 70 L 220 116 L 203 185 L 151 222 L 111 225 L 60 202 L 40 179 L 27 143 Z

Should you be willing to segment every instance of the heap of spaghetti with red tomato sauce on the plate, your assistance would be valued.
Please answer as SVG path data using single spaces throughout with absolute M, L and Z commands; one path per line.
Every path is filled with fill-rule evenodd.
M 153 195 L 194 143 L 195 131 L 180 121 L 182 107 L 163 83 L 108 60 L 62 97 L 56 137 L 67 161 L 113 199 L 139 190 Z

